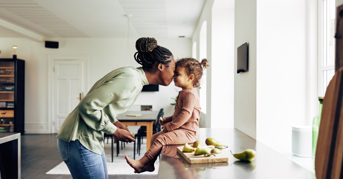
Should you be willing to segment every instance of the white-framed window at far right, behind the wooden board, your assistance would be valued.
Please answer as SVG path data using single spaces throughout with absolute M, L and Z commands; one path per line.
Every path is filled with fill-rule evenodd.
M 324 96 L 329 82 L 335 74 L 335 17 L 336 17 L 336 4 L 335 0 L 322 1 L 322 22 L 321 37 L 322 37 L 322 55 L 319 65 L 319 95 Z

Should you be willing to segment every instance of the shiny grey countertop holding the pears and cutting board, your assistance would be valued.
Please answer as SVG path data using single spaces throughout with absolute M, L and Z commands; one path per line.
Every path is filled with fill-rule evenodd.
M 238 129 L 200 128 L 198 140 L 212 137 L 228 148 L 223 149 L 229 161 L 222 163 L 189 164 L 176 147 L 165 145 L 161 152 L 158 179 L 314 179 L 315 174 L 282 156 L 268 146 L 256 141 Z M 246 149 L 256 150 L 257 157 L 252 162 L 243 162 L 230 153 Z

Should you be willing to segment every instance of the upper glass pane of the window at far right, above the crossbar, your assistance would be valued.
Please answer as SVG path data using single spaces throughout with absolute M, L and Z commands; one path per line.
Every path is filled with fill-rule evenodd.
M 335 64 L 335 0 L 324 1 L 324 66 Z

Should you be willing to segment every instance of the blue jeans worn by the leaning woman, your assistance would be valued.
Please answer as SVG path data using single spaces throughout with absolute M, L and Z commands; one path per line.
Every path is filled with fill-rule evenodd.
M 101 155 L 86 149 L 79 140 L 57 140 L 58 151 L 71 176 L 81 179 L 108 179 L 105 152 Z

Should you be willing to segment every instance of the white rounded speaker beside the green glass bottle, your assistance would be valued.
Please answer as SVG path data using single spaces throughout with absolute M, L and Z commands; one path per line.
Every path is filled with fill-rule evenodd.
M 311 126 L 292 126 L 292 153 L 300 157 L 312 155 Z

